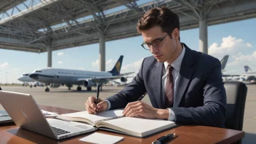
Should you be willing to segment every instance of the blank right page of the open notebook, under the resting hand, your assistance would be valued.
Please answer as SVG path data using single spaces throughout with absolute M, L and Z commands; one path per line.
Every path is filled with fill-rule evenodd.
M 142 136 L 150 135 L 176 125 L 173 121 L 160 119 L 139 119 L 132 117 L 113 119 L 111 121 L 105 121 L 105 123 L 112 124 L 116 127 L 121 127 L 122 129 L 127 129 L 131 132 L 139 133 Z

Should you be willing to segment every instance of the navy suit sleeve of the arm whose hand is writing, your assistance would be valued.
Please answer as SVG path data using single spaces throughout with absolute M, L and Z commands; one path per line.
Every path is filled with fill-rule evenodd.
M 125 108 L 125 106 L 130 103 L 137 101 L 141 95 L 143 95 L 145 90 L 145 85 L 143 81 L 143 65 L 145 59 L 141 64 L 140 71 L 137 73 L 137 76 L 125 87 L 118 92 L 116 95 L 108 97 L 106 100 L 111 103 L 111 110 L 116 108 Z

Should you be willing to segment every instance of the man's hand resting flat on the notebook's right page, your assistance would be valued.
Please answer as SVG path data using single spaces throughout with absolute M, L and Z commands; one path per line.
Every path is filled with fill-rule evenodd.
M 169 110 L 153 108 L 151 105 L 136 101 L 128 103 L 123 111 L 124 116 L 142 117 L 146 119 L 168 119 Z

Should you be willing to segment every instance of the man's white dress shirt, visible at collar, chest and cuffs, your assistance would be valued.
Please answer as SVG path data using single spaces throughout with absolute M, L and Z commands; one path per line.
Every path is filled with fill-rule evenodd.
M 173 70 L 172 70 L 172 77 L 173 77 L 173 84 L 174 84 L 174 96 L 176 95 L 176 81 L 179 77 L 179 73 L 180 73 L 180 65 L 183 62 L 183 57 L 185 55 L 185 48 L 183 46 L 183 51 L 180 53 L 179 57 L 177 57 L 177 59 L 171 63 Z M 164 67 L 163 67 L 163 73 L 162 73 L 162 97 L 164 97 L 164 88 L 165 85 L 167 83 L 167 66 L 169 65 L 169 63 L 164 62 Z M 105 111 L 108 111 L 109 109 L 111 109 L 111 103 L 108 100 L 105 100 L 108 103 L 108 108 Z M 170 109 L 167 108 L 169 110 L 169 117 L 168 120 L 169 121 L 174 121 L 175 120 L 175 113 Z

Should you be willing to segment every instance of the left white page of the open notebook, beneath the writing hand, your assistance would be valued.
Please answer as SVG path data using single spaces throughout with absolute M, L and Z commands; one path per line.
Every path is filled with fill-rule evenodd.
M 99 121 L 102 119 L 109 119 L 109 118 L 113 118 L 116 116 L 123 116 L 122 112 L 123 112 L 123 109 L 112 110 L 112 111 L 103 111 L 100 113 L 96 113 L 96 115 L 89 114 L 87 111 L 81 111 L 81 112 L 76 112 L 76 113 L 67 113 L 67 114 L 62 114 L 62 115 L 89 119 L 90 121 Z

